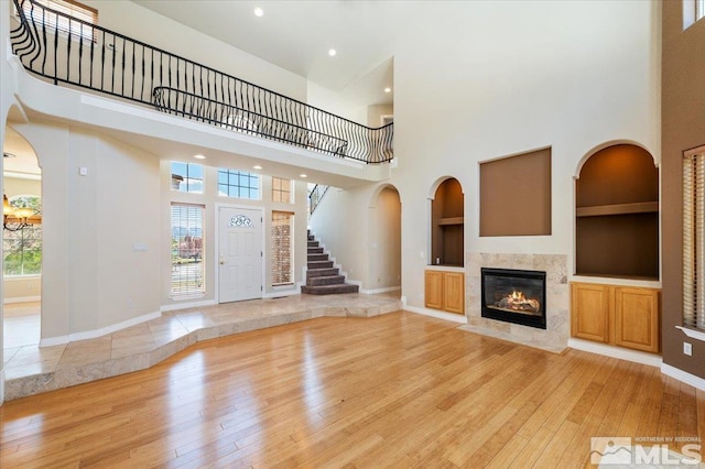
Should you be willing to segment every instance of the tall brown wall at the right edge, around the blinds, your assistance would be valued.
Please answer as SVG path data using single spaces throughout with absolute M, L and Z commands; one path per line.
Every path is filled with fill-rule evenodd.
M 682 157 L 705 144 L 705 21 L 683 31 L 683 2 L 663 4 L 663 164 L 662 187 L 662 348 L 663 362 L 705 378 L 705 342 L 688 339 L 675 326 L 683 324 L 682 305 Z M 683 342 L 693 356 L 683 355 Z

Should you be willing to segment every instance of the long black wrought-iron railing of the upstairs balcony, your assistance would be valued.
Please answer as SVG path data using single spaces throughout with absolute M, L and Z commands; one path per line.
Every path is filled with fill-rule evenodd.
M 365 163 L 393 159 L 393 123 L 369 128 L 187 58 L 13 0 L 12 52 L 35 75 L 264 139 Z

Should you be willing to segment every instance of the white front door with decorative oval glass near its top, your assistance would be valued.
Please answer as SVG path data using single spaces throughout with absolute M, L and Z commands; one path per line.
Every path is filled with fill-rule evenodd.
M 218 208 L 218 303 L 262 297 L 262 211 Z

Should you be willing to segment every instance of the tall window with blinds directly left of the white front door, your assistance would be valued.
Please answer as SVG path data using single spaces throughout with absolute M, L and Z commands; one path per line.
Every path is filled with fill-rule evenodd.
M 172 297 L 205 293 L 204 210 L 202 205 L 172 204 Z

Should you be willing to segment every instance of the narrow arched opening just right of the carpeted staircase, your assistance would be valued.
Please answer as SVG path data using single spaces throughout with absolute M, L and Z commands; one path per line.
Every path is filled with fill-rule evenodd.
M 401 197 L 397 188 L 378 187 L 370 209 L 370 291 L 401 290 Z

